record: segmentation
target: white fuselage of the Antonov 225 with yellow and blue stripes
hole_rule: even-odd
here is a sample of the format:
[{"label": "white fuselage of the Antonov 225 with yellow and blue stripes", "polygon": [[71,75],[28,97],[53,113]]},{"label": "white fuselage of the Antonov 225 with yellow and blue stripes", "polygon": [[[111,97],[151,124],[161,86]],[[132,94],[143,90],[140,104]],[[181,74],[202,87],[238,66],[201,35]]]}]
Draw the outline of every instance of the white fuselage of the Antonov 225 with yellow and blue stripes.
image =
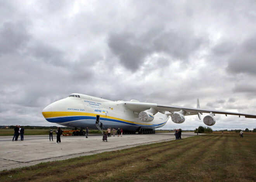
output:
[{"label": "white fuselage of the Antonov 225 with yellow and blue stripes", "polygon": [[124,101],[111,101],[83,94],[72,94],[58,100],[45,107],[42,114],[48,122],[62,126],[97,129],[95,123],[98,119],[102,122],[103,129],[123,128],[126,131],[160,128],[169,119],[166,114],[157,112],[153,121],[143,122],[138,118],[138,112],[125,107]]}]

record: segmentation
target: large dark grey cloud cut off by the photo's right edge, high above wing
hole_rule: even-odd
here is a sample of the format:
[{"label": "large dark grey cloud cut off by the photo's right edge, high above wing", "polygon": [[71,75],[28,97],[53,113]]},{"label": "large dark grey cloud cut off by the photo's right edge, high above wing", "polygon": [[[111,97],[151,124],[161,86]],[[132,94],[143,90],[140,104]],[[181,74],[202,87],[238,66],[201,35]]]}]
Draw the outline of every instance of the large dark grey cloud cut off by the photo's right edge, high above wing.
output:
[{"label": "large dark grey cloud cut off by the photo's right edge, high above wing", "polygon": [[256,75],[256,35],[246,39],[242,44],[237,46],[235,51],[228,59],[227,71],[230,73],[247,73]]}]

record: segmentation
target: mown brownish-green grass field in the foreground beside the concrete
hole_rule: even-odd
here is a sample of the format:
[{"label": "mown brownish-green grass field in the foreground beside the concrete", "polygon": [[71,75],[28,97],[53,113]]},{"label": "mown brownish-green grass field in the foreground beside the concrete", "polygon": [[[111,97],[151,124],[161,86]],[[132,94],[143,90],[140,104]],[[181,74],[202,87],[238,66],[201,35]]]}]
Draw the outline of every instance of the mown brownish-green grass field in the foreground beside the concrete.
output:
[{"label": "mown brownish-green grass field in the foreground beside the concrete", "polygon": [[0,181],[256,181],[256,134],[213,133],[4,170]]}]

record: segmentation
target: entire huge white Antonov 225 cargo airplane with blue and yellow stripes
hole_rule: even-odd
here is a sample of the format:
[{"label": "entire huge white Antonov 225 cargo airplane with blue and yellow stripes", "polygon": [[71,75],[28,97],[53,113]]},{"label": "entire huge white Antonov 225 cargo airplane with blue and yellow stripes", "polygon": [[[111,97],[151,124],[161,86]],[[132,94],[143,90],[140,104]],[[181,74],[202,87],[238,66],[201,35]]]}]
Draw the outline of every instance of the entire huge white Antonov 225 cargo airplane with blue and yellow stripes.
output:
[{"label": "entire huge white Antonov 225 cargo airplane with blue and yellow stripes", "polygon": [[131,134],[136,132],[139,134],[155,133],[156,128],[163,127],[168,121],[180,124],[185,121],[185,116],[189,115],[197,114],[201,120],[202,113],[209,113],[203,119],[207,126],[215,124],[215,114],[256,118],[256,115],[253,114],[201,109],[199,99],[197,99],[197,108],[189,108],[137,100],[111,101],[78,93],[58,100],[42,111],[48,122],[62,126],[100,129],[99,124],[102,122],[106,129],[122,128],[123,133]]}]

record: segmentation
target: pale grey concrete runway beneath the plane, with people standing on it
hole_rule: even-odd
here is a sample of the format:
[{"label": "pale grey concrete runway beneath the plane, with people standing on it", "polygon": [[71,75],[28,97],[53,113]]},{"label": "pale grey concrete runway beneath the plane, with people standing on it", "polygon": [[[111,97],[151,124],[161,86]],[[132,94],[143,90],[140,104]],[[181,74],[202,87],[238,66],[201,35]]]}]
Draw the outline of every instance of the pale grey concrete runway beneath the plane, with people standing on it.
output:
[{"label": "pale grey concrete runway beneath the plane, with people standing on it", "polygon": [[[196,135],[183,132],[182,138]],[[0,136],[0,171],[175,139],[174,133],[123,134],[102,142],[101,134],[89,134],[88,138],[61,136],[61,143],[55,144],[56,135],[54,141],[49,141],[49,135],[24,135],[24,141],[12,141],[12,137]]]}]

